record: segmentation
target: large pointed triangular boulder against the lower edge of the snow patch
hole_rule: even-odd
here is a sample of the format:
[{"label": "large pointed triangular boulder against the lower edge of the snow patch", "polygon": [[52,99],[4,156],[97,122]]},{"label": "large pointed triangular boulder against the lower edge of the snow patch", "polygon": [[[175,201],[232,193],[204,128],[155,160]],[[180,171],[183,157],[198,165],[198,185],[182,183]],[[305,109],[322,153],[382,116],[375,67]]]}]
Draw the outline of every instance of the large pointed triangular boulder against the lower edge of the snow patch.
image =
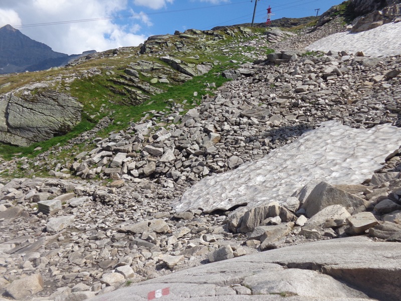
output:
[{"label": "large pointed triangular boulder against the lower edge of the snow patch", "polygon": [[326,182],[321,182],[312,190],[302,208],[306,210],[306,216],[310,218],[330,205],[341,205],[343,207],[352,208],[368,206],[365,200]]}]

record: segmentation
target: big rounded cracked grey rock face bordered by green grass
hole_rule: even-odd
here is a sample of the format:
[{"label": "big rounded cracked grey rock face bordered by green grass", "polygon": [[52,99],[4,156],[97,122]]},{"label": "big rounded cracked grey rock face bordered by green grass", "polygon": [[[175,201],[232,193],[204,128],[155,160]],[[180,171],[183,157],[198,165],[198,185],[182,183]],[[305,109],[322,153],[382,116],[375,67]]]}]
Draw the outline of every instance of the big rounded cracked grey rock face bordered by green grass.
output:
[{"label": "big rounded cracked grey rock face bordered by green grass", "polygon": [[81,120],[82,107],[50,90],[27,98],[6,94],[0,99],[0,141],[28,146],[65,134]]}]

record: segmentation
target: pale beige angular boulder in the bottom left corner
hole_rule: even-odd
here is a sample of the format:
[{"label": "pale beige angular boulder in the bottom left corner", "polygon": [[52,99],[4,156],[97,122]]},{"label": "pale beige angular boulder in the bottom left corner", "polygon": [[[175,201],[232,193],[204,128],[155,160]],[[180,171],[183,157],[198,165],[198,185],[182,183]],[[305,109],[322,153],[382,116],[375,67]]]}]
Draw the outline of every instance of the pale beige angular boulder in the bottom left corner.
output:
[{"label": "pale beige angular boulder in the bottom left corner", "polygon": [[24,299],[42,290],[43,278],[40,274],[17,279],[6,288],[6,292],[17,300]]}]

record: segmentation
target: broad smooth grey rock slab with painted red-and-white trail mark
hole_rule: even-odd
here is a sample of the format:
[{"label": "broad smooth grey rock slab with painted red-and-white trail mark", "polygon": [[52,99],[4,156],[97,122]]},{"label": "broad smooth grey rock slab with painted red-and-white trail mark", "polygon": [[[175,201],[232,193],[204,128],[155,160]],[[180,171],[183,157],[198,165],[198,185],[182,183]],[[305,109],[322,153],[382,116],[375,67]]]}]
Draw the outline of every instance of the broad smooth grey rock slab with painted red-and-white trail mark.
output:
[{"label": "broad smooth grey rock slab with painted red-and-white trail mark", "polygon": [[401,293],[399,256],[398,243],[333,239],[177,271],[90,300],[367,301],[368,294],[395,301]]}]

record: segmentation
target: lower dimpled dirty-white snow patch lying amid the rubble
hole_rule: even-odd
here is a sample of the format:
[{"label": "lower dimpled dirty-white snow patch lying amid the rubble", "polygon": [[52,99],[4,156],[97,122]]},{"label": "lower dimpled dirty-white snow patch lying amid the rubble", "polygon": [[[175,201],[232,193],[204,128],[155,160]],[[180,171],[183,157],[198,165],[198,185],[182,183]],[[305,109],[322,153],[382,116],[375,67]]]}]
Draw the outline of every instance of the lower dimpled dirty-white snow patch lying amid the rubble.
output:
[{"label": "lower dimpled dirty-white snow patch lying amid the rubble", "polygon": [[199,181],[173,202],[176,212],[256,207],[290,197],[313,180],[360,184],[398,149],[401,130],[389,124],[356,129],[322,122],[298,140],[234,171]]}]

